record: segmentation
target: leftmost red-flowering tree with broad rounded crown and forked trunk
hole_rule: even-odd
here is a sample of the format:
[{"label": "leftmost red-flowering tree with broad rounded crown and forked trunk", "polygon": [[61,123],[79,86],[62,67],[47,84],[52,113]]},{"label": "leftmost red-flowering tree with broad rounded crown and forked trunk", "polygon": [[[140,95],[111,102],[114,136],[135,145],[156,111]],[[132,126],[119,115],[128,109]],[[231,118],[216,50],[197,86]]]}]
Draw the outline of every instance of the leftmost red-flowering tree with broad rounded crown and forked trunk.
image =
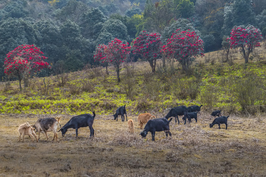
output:
[{"label": "leftmost red-flowering tree with broad rounded crown and forked trunk", "polygon": [[4,73],[8,77],[17,77],[20,90],[22,90],[22,79],[24,79],[24,85],[27,87],[27,81],[31,72],[38,72],[43,68],[49,67],[49,63],[43,61],[43,59],[47,58],[34,45],[20,45],[6,54]]}]

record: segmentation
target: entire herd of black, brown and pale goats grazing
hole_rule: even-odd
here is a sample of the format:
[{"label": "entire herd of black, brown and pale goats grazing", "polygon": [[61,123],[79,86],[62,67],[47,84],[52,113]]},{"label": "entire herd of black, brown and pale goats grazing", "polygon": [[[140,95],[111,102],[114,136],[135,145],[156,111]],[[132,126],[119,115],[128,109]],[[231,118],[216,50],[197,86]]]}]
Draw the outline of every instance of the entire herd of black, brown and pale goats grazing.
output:
[{"label": "entire herd of black, brown and pale goats grazing", "polygon": [[[170,128],[169,128],[169,122],[172,120],[171,117],[174,117],[175,122],[177,120],[178,124],[180,123],[178,116],[184,116],[182,118],[185,121],[184,124],[186,124],[187,119],[189,122],[191,122],[192,118],[195,118],[195,120],[197,122],[197,115],[200,111],[201,106],[202,105],[200,105],[200,106],[193,105],[190,107],[178,106],[178,107],[170,109],[169,113],[164,118],[155,118],[155,116],[152,116],[150,113],[140,114],[137,117],[137,121],[139,123],[140,129],[142,129],[143,124],[146,123],[143,131],[140,132],[140,135],[144,138],[144,137],[146,137],[148,132],[151,132],[152,141],[155,140],[154,136],[155,136],[156,131],[158,131],[158,132],[159,131],[165,131],[166,137],[168,136],[168,134],[169,134],[169,136],[171,136],[171,132],[170,132]],[[126,105],[119,107],[113,116],[114,116],[114,119],[116,119],[116,121],[118,120],[118,116],[121,116],[122,121],[125,121],[124,115],[126,115],[126,119],[128,121],[129,132],[134,133],[133,120],[132,119],[128,120]],[[93,115],[82,114],[82,115],[74,116],[63,127],[61,127],[58,132],[61,131],[62,136],[65,136],[67,129],[73,128],[76,130],[76,137],[77,137],[78,136],[78,129],[80,127],[87,127],[88,126],[90,128],[90,133],[91,133],[90,137],[92,137],[92,136],[94,137],[93,122],[94,122],[95,116],[96,116],[95,112],[93,112]],[[226,129],[227,129],[227,119],[229,116],[227,116],[227,117],[221,116],[221,110],[216,110],[216,111],[212,112],[211,116],[215,117],[215,119],[213,120],[212,123],[209,124],[210,127],[212,127],[215,124],[218,124],[219,129],[220,129],[220,124],[224,123],[226,125]],[[217,116],[218,116],[218,118],[216,118]],[[59,124],[59,120],[60,120],[60,118],[57,118],[57,119],[56,118],[39,118],[35,122],[34,125],[30,125],[28,122],[21,124],[18,128],[19,141],[21,140],[21,136],[23,136],[22,141],[24,141],[24,136],[29,135],[33,141],[34,141],[34,137],[35,137],[36,141],[38,142],[38,140],[40,138],[40,132],[43,132],[45,134],[47,140],[49,140],[46,132],[52,131],[54,133],[53,141],[56,138],[56,142],[57,142],[58,141],[57,126]],[[38,131],[38,139],[37,139],[37,136],[35,134],[35,131]]]}]

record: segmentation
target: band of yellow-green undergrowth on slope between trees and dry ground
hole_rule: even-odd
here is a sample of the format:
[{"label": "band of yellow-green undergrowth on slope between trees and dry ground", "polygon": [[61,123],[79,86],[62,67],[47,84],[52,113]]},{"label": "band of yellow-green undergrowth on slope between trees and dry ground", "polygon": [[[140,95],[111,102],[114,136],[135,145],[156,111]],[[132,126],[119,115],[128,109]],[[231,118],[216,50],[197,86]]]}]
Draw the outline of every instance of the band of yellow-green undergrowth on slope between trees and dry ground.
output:
[{"label": "band of yellow-green undergrowth on slope between trees and dry ground", "polygon": [[[127,66],[128,67],[128,66]],[[130,67],[128,67],[130,68]],[[29,89],[17,91],[17,83],[10,89],[0,90],[1,113],[24,114],[83,114],[95,110],[99,115],[113,114],[117,107],[127,105],[128,112],[165,113],[165,110],[178,105],[200,105],[202,109],[223,109],[226,112],[252,110],[256,113],[257,105],[265,111],[266,105],[266,65],[257,63],[200,65],[195,66],[191,76],[165,73],[146,73],[140,69],[123,69],[122,82],[117,83],[114,68],[109,68],[110,75],[104,70],[85,70],[69,74],[64,87],[58,87],[50,77],[48,94],[42,79]],[[249,87],[248,99],[241,99],[246,94],[245,82],[254,81],[256,87]],[[252,97],[252,95],[254,95]],[[260,96],[256,96],[256,95]],[[249,109],[249,110],[248,110]],[[261,107],[260,107],[261,109]],[[255,110],[255,111],[254,111]]]}]

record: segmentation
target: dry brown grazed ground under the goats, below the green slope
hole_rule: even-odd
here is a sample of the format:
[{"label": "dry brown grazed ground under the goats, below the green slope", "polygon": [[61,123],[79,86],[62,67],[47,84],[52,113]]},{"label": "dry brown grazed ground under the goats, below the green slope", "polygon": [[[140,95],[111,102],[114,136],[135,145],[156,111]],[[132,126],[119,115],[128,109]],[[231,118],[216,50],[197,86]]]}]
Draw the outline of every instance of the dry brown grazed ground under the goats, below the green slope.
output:
[{"label": "dry brown grazed ground under the goats, below the green slope", "polygon": [[[25,136],[18,142],[17,128],[47,115],[0,115],[0,177],[266,177],[266,117],[231,115],[228,130],[214,125],[207,114],[198,123],[170,122],[171,138],[164,132],[139,136],[128,133],[127,122],[107,116],[94,121],[95,137],[89,128],[74,129],[59,142],[40,135],[38,143]],[[62,126],[71,118],[63,115]],[[181,119],[181,118],[180,118]],[[59,127],[58,127],[59,130]]]}]

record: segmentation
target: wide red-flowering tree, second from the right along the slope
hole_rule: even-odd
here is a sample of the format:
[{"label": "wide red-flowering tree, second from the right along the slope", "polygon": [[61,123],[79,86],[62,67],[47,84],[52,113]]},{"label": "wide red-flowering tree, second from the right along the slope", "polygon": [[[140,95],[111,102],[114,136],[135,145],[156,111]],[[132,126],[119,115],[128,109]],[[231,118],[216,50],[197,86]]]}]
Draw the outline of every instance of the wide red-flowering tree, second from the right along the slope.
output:
[{"label": "wide red-flowering tree, second from the right along the slope", "polygon": [[177,59],[187,74],[190,71],[192,61],[198,56],[204,56],[203,41],[195,31],[190,29],[188,31],[177,29],[176,33],[167,40],[167,44],[162,47],[162,51],[168,57]]}]

